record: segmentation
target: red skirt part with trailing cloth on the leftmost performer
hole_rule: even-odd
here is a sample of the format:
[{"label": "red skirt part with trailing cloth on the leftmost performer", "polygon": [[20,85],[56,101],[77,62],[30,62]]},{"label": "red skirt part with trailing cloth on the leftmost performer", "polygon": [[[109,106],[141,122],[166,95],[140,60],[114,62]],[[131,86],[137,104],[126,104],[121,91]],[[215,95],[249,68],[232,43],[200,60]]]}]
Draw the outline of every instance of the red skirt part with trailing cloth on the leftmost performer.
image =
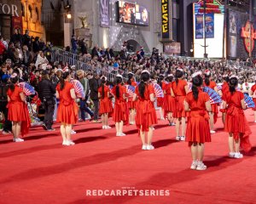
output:
[{"label": "red skirt part with trailing cloth on the leftmost performer", "polygon": [[29,127],[31,127],[31,120],[27,110],[27,106],[24,102],[15,101],[9,102],[7,105],[8,111],[8,119],[11,122],[21,122],[21,130],[20,133],[24,136],[29,131]]}]

